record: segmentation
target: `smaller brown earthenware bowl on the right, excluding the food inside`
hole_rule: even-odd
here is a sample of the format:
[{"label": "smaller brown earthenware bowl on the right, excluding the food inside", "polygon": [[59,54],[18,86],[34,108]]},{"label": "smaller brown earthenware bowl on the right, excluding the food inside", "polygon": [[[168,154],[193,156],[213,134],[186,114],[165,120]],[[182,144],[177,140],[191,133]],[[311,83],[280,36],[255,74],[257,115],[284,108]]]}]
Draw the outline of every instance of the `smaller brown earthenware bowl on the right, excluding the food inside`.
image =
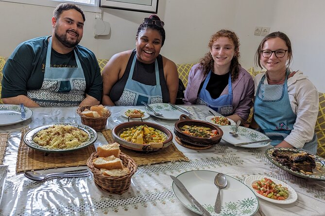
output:
[{"label": "smaller brown earthenware bowl on the right, excluding the food inside", "polygon": [[[210,127],[212,130],[217,130],[218,135],[211,137],[211,138],[200,138],[200,137],[194,137],[188,134],[185,134],[179,129],[180,127],[183,127],[184,125],[198,125],[198,126],[205,126]],[[215,124],[204,122],[204,121],[198,121],[198,120],[192,120],[187,115],[181,115],[179,117],[179,120],[175,123],[174,126],[174,133],[175,135],[181,139],[182,141],[186,143],[190,143],[192,145],[197,146],[209,146],[213,144],[217,144],[220,142],[223,132],[220,127],[218,127]]]}]

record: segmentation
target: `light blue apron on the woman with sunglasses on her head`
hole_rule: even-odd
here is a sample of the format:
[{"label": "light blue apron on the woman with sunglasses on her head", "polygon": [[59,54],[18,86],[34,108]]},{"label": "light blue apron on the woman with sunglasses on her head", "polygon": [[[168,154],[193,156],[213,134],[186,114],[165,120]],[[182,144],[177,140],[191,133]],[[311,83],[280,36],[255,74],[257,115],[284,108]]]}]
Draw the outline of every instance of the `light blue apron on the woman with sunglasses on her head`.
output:
[{"label": "light blue apron on the woman with sunglasses on her head", "polygon": [[[141,102],[147,104],[162,103],[162,93],[159,79],[159,68],[157,60],[154,61],[156,85],[145,85],[132,79],[134,67],[136,65],[137,55],[131,64],[129,77],[126,81],[124,91],[118,101],[115,101],[116,106],[143,106]],[[143,77],[145,78],[145,77]]]}]

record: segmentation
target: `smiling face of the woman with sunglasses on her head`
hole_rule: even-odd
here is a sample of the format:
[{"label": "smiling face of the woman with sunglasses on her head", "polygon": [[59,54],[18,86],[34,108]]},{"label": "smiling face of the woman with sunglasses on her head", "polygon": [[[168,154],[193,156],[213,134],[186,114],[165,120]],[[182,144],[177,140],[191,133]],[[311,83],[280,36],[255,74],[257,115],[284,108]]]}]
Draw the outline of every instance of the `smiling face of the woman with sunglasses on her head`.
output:
[{"label": "smiling face of the woman with sunglasses on her head", "polygon": [[162,36],[159,31],[146,28],[139,32],[136,38],[137,60],[143,63],[153,63],[160,53]]}]

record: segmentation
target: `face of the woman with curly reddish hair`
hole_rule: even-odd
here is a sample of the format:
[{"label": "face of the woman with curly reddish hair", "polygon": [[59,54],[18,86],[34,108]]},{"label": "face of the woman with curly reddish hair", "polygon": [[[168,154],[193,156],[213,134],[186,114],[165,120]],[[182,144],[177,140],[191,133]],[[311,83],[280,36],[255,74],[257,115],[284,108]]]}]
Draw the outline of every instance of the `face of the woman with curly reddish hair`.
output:
[{"label": "face of the woman with curly reddish hair", "polygon": [[228,37],[220,37],[214,41],[210,49],[214,67],[226,68],[227,72],[230,69],[231,60],[236,55],[235,45]]}]

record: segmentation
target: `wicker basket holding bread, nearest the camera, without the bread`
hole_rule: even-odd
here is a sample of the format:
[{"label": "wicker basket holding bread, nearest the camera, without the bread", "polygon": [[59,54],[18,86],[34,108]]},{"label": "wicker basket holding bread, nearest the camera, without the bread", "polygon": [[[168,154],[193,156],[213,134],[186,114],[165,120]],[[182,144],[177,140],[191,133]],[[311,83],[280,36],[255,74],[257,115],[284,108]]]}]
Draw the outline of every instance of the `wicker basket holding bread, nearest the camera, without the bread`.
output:
[{"label": "wicker basket holding bread, nearest the camera, without the bread", "polygon": [[97,157],[97,152],[94,152],[87,160],[87,166],[94,174],[95,184],[108,193],[122,194],[126,192],[130,187],[133,174],[137,171],[136,162],[127,154],[120,153],[122,164],[124,167],[129,168],[130,174],[120,177],[110,177],[101,174],[101,171],[94,167],[93,159]]}]

